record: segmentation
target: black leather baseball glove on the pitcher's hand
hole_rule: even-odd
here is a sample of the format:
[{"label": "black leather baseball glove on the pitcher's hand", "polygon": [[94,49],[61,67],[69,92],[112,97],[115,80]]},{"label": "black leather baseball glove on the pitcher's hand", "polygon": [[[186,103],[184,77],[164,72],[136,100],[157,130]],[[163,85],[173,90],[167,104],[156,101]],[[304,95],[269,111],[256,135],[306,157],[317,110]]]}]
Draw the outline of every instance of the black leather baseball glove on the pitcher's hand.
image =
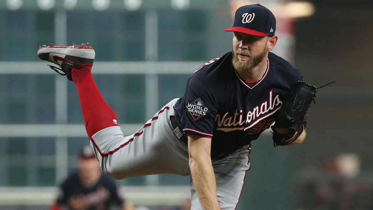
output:
[{"label": "black leather baseball glove on the pitcher's hand", "polygon": [[[332,83],[335,82],[328,84]],[[316,104],[317,90],[328,84],[316,87],[305,81],[297,81],[290,88],[282,102],[275,125],[271,126],[274,146],[288,145],[301,135],[303,129],[306,129],[305,118],[307,117],[308,107],[311,102]],[[276,128],[288,129],[289,133],[280,134],[276,132]]]}]

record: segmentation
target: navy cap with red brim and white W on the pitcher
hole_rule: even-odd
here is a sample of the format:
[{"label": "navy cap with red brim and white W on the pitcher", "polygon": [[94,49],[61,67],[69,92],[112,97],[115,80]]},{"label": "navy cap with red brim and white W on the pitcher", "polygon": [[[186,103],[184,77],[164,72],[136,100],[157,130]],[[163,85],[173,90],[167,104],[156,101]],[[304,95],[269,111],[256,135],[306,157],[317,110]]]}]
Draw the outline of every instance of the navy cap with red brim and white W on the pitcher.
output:
[{"label": "navy cap with red brim and white W on the pitcher", "polygon": [[260,4],[251,4],[239,7],[236,10],[232,28],[227,28],[224,31],[273,37],[275,30],[276,18],[272,12]]}]

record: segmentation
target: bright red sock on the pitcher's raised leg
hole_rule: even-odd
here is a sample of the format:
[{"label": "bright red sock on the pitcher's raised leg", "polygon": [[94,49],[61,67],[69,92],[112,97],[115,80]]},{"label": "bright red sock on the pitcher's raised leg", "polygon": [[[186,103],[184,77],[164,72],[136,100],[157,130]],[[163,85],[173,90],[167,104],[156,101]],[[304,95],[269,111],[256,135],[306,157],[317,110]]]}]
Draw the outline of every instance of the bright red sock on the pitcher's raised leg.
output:
[{"label": "bright red sock on the pitcher's raised leg", "polygon": [[92,65],[81,65],[79,69],[71,70],[72,79],[78,90],[85,129],[90,139],[104,128],[119,126],[114,111],[106,104],[93,80],[91,67]]}]

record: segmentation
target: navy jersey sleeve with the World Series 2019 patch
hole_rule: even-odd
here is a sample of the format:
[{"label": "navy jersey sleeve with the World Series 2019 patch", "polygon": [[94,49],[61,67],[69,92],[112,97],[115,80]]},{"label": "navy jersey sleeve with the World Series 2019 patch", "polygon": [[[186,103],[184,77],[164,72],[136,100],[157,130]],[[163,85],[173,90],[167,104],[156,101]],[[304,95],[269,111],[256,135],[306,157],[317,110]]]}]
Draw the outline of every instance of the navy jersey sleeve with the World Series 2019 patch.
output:
[{"label": "navy jersey sleeve with the World Series 2019 patch", "polygon": [[191,77],[180,103],[179,127],[186,134],[212,138],[217,100],[211,87],[197,77]]}]

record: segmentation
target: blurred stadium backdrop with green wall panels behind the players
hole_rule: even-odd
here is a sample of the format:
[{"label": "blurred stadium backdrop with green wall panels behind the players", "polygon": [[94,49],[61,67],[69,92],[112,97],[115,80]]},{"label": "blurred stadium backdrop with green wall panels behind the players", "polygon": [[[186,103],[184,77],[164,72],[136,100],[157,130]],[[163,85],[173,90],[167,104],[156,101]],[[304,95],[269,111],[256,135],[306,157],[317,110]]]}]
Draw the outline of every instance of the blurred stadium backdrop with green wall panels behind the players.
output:
[{"label": "blurred stadium backdrop with green wall panels behind the players", "polygon": [[[191,72],[231,50],[232,34],[223,29],[232,24],[233,4],[242,2],[259,2],[281,17],[276,34],[286,41],[276,52],[305,81],[337,83],[311,105],[303,144],[274,148],[270,133],[253,142],[237,209],[372,209],[368,0],[313,0],[314,13],[294,19],[282,10],[291,2],[279,0],[1,0],[0,209],[47,209],[88,143],[75,87],[38,60],[40,45],[90,42],[94,78],[129,134],[181,96]],[[152,210],[190,196],[189,177],[118,183]]]}]

